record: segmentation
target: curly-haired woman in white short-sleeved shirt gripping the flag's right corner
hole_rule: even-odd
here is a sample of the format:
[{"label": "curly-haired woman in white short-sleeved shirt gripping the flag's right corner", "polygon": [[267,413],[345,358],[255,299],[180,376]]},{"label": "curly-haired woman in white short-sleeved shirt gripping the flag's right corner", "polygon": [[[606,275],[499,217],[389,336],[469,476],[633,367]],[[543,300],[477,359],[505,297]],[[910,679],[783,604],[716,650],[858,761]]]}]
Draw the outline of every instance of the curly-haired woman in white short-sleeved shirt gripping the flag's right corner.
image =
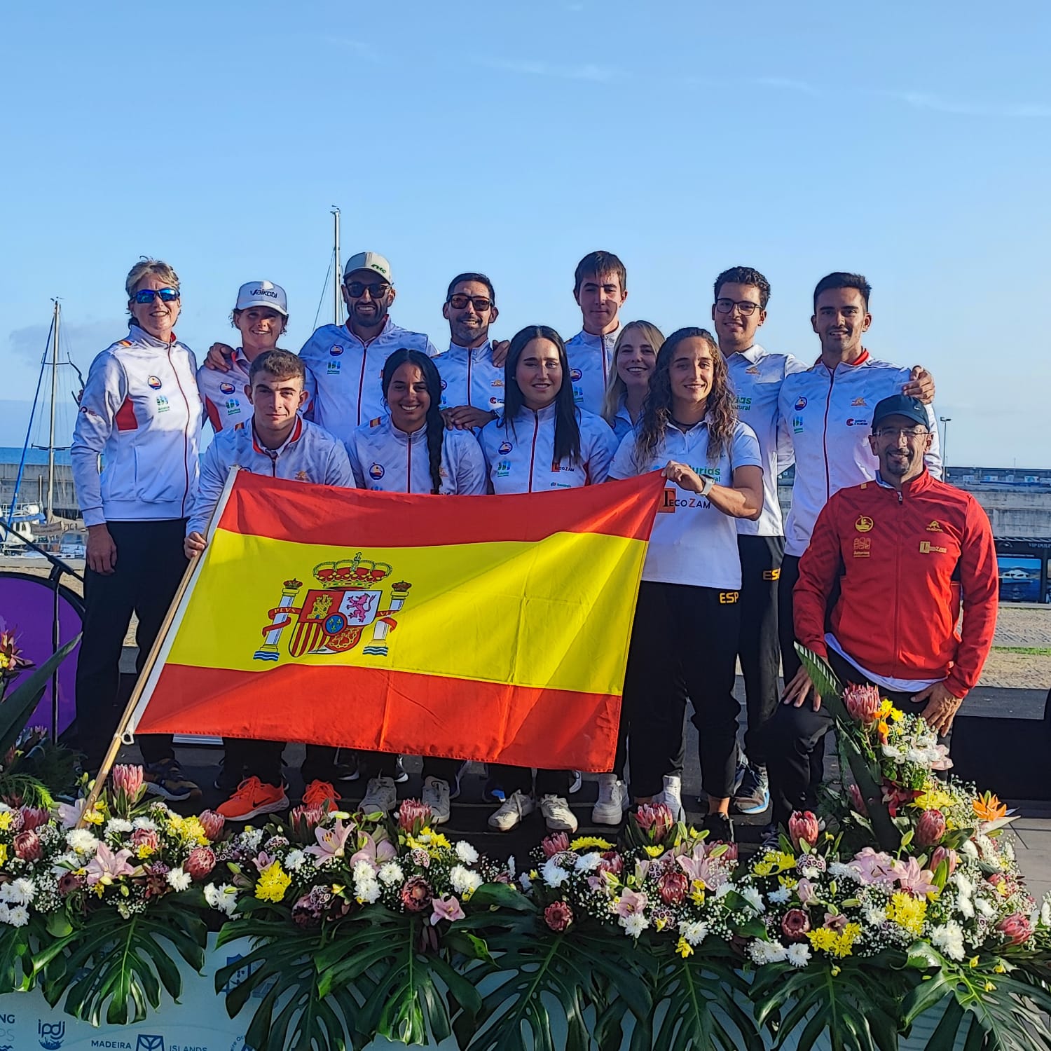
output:
[{"label": "curly-haired woman in white short-sleeved shirt gripping the flag's right corner", "polygon": [[[763,469],[755,433],[737,418],[726,363],[705,329],[679,329],[664,341],[638,424],[621,441],[610,477],[654,470],[672,485],[642,570],[616,783],[628,747],[637,803],[658,795],[666,776],[681,776],[688,697],[708,797],[703,824],[713,840],[731,842],[740,710],[734,697],[741,586],[735,519],[762,512]],[[623,798],[616,784],[613,794]]]}]

